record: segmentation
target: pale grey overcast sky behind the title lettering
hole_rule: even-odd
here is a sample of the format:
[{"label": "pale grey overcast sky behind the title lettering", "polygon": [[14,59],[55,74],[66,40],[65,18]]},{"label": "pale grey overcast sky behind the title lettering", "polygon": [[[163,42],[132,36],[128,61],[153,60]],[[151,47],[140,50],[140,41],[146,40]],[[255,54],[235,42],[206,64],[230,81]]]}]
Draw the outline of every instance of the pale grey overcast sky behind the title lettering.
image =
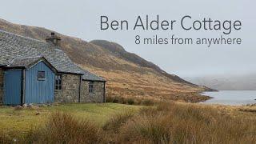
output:
[{"label": "pale grey overcast sky behind the title lettering", "polygon": [[[8,0],[0,4],[0,18],[7,21],[41,26],[59,33],[82,38],[86,41],[106,39],[118,42],[124,48],[146,58],[170,74],[182,77],[207,74],[246,74],[256,72],[256,2],[255,0],[109,0],[78,1],[63,0]],[[162,38],[175,34],[179,38],[218,38],[221,32],[180,30],[100,30],[100,16],[110,20],[128,20],[133,25],[138,15],[150,15],[160,19],[179,20],[189,14],[192,18],[219,20],[241,20],[242,30],[229,35],[242,38],[240,46],[177,46],[136,45],[134,37],[151,38],[158,34]]]}]

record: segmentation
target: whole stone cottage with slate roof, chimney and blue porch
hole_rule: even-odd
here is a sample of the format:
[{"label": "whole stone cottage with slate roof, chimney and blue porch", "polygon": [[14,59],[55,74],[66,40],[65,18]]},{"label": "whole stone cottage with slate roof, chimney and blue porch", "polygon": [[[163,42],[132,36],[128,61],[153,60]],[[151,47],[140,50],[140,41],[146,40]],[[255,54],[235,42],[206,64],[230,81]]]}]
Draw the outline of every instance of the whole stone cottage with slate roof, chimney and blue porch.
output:
[{"label": "whole stone cottage with slate roof, chimney and blue porch", "polygon": [[75,65],[60,42],[0,30],[0,103],[105,102],[106,80]]}]

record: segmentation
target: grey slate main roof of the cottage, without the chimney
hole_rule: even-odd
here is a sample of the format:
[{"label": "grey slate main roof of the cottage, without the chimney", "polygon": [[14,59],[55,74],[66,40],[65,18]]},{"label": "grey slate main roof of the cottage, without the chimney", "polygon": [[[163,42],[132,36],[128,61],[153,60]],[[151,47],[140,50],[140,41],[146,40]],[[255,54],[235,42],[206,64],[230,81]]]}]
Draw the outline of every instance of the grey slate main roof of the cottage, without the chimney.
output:
[{"label": "grey slate main roof of the cottage, without the chimney", "polygon": [[32,61],[39,57],[46,58],[60,73],[82,74],[83,80],[105,82],[105,79],[75,65],[58,46],[0,30],[0,66],[18,61],[19,58]]}]

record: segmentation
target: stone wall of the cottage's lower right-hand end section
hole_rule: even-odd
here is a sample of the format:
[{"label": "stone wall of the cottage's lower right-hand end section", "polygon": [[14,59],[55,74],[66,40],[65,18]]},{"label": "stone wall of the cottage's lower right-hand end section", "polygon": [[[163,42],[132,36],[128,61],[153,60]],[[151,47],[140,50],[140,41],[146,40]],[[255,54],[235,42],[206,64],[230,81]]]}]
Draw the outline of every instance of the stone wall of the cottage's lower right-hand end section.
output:
[{"label": "stone wall of the cottage's lower right-hand end section", "polygon": [[93,82],[94,93],[89,93],[89,81],[82,81],[81,102],[104,102],[104,82]]}]

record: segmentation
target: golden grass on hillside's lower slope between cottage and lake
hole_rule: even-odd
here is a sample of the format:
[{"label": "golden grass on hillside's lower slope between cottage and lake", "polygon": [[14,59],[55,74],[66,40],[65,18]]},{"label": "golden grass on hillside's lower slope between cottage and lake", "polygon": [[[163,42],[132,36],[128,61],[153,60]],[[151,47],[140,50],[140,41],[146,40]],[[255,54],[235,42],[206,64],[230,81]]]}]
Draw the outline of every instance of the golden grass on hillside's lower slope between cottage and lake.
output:
[{"label": "golden grass on hillside's lower slope between cottage and lake", "polygon": [[106,94],[111,97],[165,99],[183,102],[201,102],[209,99],[209,97],[198,95],[203,89],[174,82],[170,78],[153,72],[139,74],[94,68],[89,70],[108,80]]}]

